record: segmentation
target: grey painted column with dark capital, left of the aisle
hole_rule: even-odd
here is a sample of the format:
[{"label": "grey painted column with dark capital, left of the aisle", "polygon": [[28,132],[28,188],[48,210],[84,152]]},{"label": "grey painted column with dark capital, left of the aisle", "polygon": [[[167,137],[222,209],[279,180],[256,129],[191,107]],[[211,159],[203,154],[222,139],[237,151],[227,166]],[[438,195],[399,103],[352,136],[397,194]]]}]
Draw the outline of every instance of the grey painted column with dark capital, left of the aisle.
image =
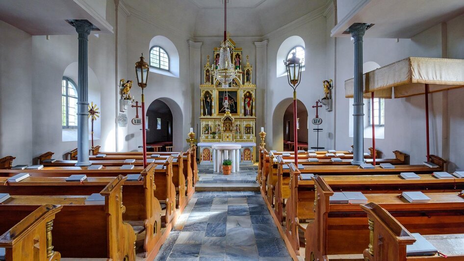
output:
[{"label": "grey painted column with dark capital, left of the aisle", "polygon": [[89,120],[88,120],[88,36],[93,25],[84,20],[75,20],[78,33],[79,51],[77,58],[77,163],[76,166],[90,166],[89,161]]}]

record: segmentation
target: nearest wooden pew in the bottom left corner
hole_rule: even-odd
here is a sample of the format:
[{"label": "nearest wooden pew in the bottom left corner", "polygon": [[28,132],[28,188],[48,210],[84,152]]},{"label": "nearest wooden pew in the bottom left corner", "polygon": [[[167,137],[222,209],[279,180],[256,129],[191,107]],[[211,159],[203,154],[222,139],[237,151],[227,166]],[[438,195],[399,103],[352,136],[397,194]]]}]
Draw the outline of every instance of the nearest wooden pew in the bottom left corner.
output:
[{"label": "nearest wooden pew in the bottom left corner", "polygon": [[53,219],[62,206],[43,205],[27,214],[16,206],[0,205],[0,248],[6,261],[59,261],[53,251]]}]

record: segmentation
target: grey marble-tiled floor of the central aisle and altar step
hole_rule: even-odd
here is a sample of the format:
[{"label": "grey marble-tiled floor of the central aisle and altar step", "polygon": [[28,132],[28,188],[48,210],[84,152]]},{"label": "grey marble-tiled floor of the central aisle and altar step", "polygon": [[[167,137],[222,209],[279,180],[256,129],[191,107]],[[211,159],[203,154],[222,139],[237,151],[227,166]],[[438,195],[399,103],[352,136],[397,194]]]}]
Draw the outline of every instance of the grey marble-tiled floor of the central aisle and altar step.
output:
[{"label": "grey marble-tiled floor of the central aisle and altar step", "polygon": [[[252,183],[256,166],[224,176],[199,166],[199,183]],[[210,172],[210,173],[209,173]],[[256,191],[195,192],[156,261],[290,261],[261,195]]]}]

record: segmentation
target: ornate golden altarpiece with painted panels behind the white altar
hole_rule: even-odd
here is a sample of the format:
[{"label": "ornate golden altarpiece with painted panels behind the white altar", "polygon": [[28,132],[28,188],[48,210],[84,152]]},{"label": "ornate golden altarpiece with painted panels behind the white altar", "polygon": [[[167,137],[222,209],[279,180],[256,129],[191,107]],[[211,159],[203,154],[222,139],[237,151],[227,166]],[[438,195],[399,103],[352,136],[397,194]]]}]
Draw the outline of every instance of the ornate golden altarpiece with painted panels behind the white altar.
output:
[{"label": "ornate golden altarpiece with painted panels behind the white altar", "polygon": [[[232,47],[231,60],[235,68],[235,77],[228,88],[214,78],[219,64],[219,48],[214,48],[213,58],[206,57],[203,68],[203,83],[200,84],[200,142],[201,163],[212,164],[211,146],[214,144],[240,144],[240,162],[255,161],[256,150],[256,84],[252,83],[253,66],[249,57],[242,58],[242,48],[235,47],[232,39],[228,39]],[[224,99],[229,101],[229,111],[223,105]]]}]

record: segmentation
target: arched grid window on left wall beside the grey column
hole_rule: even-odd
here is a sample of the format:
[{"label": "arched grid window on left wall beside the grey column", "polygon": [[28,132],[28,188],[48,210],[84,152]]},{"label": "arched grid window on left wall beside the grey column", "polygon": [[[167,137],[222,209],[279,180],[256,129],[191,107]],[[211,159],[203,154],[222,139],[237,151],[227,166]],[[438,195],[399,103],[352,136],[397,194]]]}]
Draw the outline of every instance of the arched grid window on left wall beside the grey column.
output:
[{"label": "arched grid window on left wall beside the grey column", "polygon": [[68,77],[61,81],[61,104],[63,129],[77,128],[77,88]]}]

